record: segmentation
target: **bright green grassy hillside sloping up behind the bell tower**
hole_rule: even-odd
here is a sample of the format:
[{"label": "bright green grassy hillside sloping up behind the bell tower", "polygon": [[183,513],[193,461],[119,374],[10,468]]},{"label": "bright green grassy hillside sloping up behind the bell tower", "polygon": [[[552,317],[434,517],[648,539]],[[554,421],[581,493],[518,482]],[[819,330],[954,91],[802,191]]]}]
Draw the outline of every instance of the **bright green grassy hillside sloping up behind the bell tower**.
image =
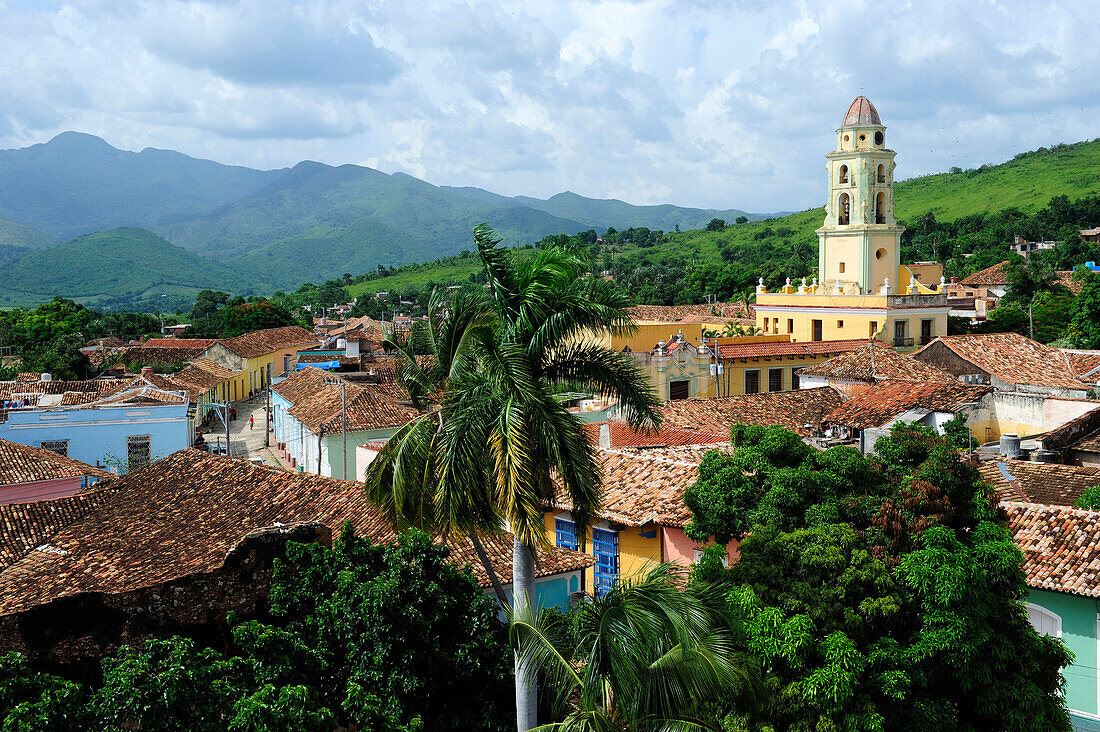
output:
[{"label": "bright green grassy hillside sloping up behind the bell tower", "polygon": [[[1100,193],[1100,141],[1025,153],[1016,160],[974,171],[911,178],[898,183],[894,188],[898,217],[902,221],[911,221],[928,210],[935,212],[936,218],[942,221],[1009,207],[1034,211],[1057,195],[1066,195],[1072,199]],[[648,262],[667,260],[682,263],[691,260],[692,252],[698,250],[698,260],[717,262],[719,239],[728,241],[735,248],[751,247],[757,243],[755,234],[766,228],[772,231],[790,229],[791,233],[787,236],[770,238],[805,242],[815,253],[817,239],[814,230],[822,225],[824,218],[824,208],[813,208],[790,216],[727,227],[722,231],[683,231],[672,234],[671,241],[661,247],[648,250],[624,247],[619,255],[632,254]],[[1100,225],[1100,221],[1097,223]],[[469,269],[453,265],[426,266],[417,272],[399,273],[354,285],[360,288],[354,294],[414,288],[431,281],[462,282],[474,267],[473,262]]]}]

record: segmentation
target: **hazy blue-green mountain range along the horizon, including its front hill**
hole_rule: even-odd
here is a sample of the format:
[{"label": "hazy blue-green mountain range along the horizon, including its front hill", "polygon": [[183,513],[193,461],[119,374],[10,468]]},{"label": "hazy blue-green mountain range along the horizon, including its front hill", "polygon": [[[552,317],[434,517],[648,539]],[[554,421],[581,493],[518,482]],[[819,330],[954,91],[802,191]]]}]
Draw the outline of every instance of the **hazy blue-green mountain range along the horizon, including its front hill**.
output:
[{"label": "hazy blue-green mountain range along the horizon, including its front hill", "polygon": [[0,306],[64,295],[165,309],[206,287],[294,288],[457,254],[471,248],[481,221],[517,244],[608,227],[694,229],[739,216],[765,218],[569,192],[509,197],[360,165],[256,171],[65,132],[0,150]]}]

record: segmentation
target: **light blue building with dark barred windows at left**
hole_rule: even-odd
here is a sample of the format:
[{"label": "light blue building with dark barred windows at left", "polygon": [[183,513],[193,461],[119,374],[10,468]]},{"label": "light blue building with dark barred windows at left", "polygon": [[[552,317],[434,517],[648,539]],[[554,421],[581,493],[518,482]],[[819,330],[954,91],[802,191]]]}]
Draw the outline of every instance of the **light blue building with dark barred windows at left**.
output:
[{"label": "light blue building with dark barred windows at left", "polygon": [[190,444],[188,397],[127,382],[4,382],[0,439],[125,472]]}]

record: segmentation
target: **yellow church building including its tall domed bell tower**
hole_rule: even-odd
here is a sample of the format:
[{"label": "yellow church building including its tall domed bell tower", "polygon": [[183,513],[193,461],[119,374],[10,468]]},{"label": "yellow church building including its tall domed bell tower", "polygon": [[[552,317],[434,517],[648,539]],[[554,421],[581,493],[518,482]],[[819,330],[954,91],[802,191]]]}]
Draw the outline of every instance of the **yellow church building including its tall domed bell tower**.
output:
[{"label": "yellow church building including its tall domed bell tower", "polygon": [[[904,228],[894,218],[894,153],[875,106],[857,97],[826,155],[828,198],[817,229],[818,277],[790,280],[769,292],[757,286],[757,325],[792,341],[866,339],[878,336],[912,348],[947,334],[947,294],[922,284],[900,263]],[[922,277],[934,263],[921,263]],[[820,278],[820,282],[818,282]]]}]

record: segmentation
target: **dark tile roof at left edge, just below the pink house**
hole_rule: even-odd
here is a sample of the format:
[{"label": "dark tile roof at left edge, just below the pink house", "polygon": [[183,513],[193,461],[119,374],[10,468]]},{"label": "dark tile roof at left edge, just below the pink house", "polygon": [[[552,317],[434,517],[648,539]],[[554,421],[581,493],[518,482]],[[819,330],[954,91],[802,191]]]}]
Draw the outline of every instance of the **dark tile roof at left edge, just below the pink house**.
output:
[{"label": "dark tile roof at left edge, just below the pink house", "polygon": [[76,495],[0,505],[0,572],[88,511],[109,500],[113,488],[97,487]]}]

